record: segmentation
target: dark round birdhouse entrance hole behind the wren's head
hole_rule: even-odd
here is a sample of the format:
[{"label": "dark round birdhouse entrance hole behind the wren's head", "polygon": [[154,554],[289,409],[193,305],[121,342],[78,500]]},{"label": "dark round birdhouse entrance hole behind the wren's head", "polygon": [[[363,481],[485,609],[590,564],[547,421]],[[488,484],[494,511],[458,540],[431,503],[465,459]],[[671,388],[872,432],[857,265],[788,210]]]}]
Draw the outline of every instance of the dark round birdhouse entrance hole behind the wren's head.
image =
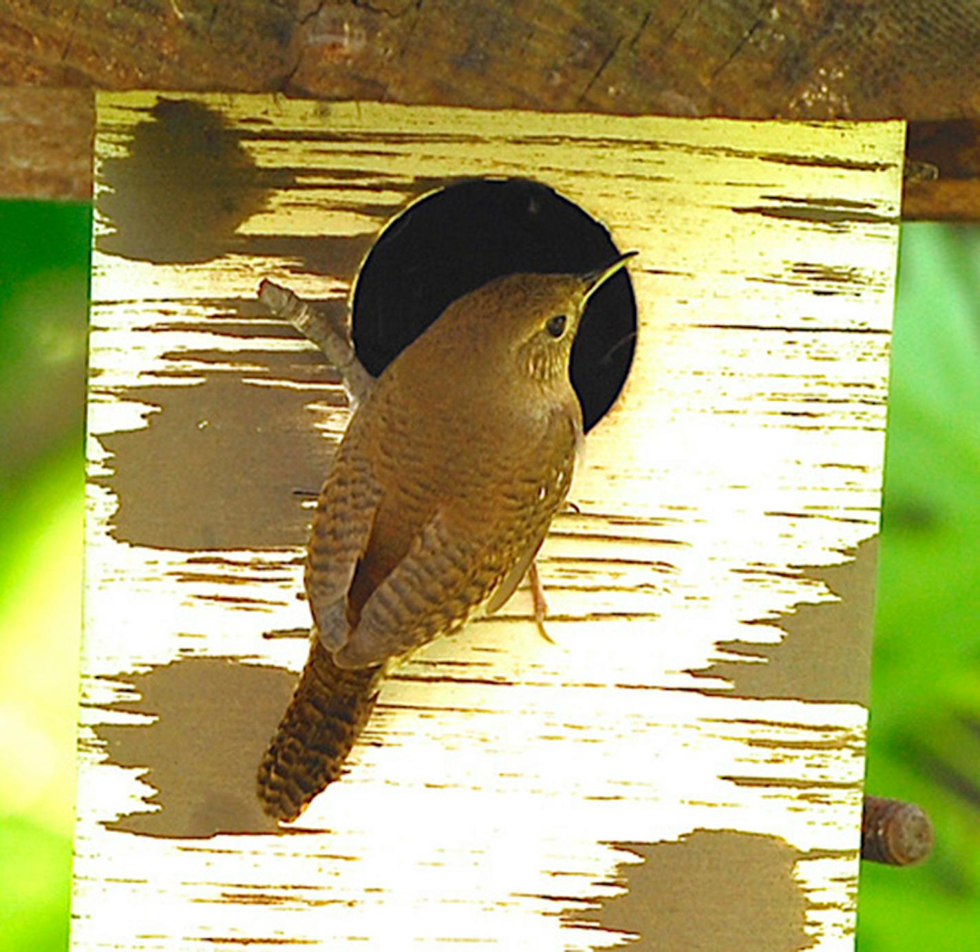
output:
[{"label": "dark round birdhouse entrance hole behind the wren's head", "polygon": [[[377,376],[445,308],[495,277],[584,273],[619,254],[603,225],[526,178],[473,179],[420,199],[381,233],[354,292],[354,343]],[[585,428],[606,414],[633,359],[636,299],[623,271],[589,301],[571,351]]]}]

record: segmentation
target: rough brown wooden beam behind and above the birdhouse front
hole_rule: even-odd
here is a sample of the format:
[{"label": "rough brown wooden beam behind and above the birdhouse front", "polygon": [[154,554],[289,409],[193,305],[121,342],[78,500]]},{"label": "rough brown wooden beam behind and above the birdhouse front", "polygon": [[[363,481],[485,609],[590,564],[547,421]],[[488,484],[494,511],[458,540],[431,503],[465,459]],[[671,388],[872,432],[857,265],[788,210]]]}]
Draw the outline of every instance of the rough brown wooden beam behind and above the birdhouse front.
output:
[{"label": "rough brown wooden beam behind and above the birdhouse front", "polygon": [[[0,3],[8,85],[622,115],[977,121],[978,45],[972,0]],[[0,193],[87,198],[90,112],[4,97]],[[978,181],[907,214],[975,220]]]}]

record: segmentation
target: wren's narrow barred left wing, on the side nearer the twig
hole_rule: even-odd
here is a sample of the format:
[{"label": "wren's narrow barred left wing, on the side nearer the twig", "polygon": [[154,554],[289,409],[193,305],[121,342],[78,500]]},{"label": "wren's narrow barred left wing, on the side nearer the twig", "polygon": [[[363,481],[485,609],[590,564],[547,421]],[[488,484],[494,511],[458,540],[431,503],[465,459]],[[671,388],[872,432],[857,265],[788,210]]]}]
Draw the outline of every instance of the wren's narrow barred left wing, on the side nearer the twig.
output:
[{"label": "wren's narrow barred left wing, on the side nearer the twig", "polygon": [[306,589],[320,640],[330,650],[350,633],[347,599],[368,548],[382,490],[358,459],[335,467],[323,486],[310,535]]}]

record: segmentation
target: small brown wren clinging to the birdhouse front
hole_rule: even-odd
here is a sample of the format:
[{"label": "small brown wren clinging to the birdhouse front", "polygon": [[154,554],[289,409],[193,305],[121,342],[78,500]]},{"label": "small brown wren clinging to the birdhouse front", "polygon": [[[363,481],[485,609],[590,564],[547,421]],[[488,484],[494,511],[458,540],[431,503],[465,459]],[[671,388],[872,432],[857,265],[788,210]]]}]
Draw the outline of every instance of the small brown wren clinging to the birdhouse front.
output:
[{"label": "small brown wren clinging to the birdhouse front", "polygon": [[328,783],[396,662],[511,596],[582,439],[568,378],[588,275],[500,277],[451,304],[378,378],[319,494],[310,657],[259,768],[291,821]]}]

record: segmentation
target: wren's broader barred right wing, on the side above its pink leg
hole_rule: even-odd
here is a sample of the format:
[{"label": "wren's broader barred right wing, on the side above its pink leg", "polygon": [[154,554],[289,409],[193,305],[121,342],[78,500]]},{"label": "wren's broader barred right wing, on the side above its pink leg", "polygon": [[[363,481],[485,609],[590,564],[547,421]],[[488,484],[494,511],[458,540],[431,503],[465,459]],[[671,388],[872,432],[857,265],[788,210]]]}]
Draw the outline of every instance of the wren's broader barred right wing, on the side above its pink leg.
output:
[{"label": "wren's broader barred right wing, on the side above its pink leg", "polygon": [[422,528],[368,598],[358,625],[334,655],[339,667],[381,664],[465,625],[527,545],[526,538],[498,539],[471,524],[453,523],[440,511]]}]

